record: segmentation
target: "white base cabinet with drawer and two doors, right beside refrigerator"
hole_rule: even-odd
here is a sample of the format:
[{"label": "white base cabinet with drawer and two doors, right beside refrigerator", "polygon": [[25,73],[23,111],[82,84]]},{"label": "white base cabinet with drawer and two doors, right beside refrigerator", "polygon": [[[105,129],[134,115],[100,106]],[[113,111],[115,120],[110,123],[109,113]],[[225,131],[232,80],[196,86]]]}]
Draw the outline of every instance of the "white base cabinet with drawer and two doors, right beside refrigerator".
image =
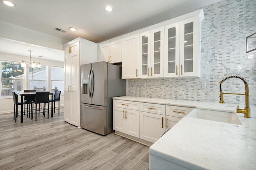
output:
[{"label": "white base cabinet with drawer and two doors, right beside refrigerator", "polygon": [[[140,137],[140,111],[138,102],[113,100],[113,129]],[[132,108],[132,109],[127,109]]]}]

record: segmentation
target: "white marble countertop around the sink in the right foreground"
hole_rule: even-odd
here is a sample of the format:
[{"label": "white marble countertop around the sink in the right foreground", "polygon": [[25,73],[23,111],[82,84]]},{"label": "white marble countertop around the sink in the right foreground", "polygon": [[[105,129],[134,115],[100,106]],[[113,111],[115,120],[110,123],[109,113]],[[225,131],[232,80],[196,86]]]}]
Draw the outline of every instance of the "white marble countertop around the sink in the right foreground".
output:
[{"label": "white marble countertop around the sink in the right foreground", "polygon": [[[196,106],[234,113],[236,107],[211,102],[200,102]],[[256,106],[250,107],[251,118],[236,113],[242,125],[184,117],[150,147],[150,155],[182,166],[180,169],[255,170]],[[160,169],[170,169],[161,165]]]}]

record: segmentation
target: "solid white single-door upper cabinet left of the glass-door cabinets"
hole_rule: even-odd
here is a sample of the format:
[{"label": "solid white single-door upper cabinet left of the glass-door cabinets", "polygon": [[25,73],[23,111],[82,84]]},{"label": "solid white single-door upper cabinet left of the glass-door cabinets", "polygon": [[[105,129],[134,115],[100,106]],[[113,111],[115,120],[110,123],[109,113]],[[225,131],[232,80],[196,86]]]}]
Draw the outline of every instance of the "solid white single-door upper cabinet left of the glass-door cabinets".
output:
[{"label": "solid white single-door upper cabinet left of the glass-door cabinets", "polygon": [[122,79],[139,78],[139,35],[122,39]]}]

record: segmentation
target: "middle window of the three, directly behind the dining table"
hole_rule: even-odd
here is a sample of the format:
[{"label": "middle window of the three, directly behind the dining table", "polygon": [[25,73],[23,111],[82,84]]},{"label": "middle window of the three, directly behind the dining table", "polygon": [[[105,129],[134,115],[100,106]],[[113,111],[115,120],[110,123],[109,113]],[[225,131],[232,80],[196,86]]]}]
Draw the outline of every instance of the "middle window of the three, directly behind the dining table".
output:
[{"label": "middle window of the three, directly behind the dining table", "polygon": [[29,68],[29,89],[37,92],[48,91],[48,66]]}]

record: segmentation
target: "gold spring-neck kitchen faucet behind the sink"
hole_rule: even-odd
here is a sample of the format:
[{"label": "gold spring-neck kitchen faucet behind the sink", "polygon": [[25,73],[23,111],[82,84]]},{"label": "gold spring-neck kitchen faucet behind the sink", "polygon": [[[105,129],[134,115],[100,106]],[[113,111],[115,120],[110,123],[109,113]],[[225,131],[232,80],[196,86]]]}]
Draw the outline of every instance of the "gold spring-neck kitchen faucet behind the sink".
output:
[{"label": "gold spring-neck kitchen faucet behind the sink", "polygon": [[[221,84],[228,78],[239,78],[241,80],[243,80],[244,82],[244,86],[245,86],[245,94],[238,94],[238,93],[223,93],[221,91]],[[249,88],[248,88],[248,84],[246,82],[246,80],[244,78],[242,78],[241,76],[228,76],[226,78],[223,78],[220,81],[220,103],[225,103],[224,99],[223,99],[223,94],[236,94],[236,95],[245,95],[245,107],[244,109],[239,109],[239,106],[237,106],[236,108],[236,113],[244,113],[244,117],[251,117],[251,111],[250,111],[250,107],[249,107]]]}]

